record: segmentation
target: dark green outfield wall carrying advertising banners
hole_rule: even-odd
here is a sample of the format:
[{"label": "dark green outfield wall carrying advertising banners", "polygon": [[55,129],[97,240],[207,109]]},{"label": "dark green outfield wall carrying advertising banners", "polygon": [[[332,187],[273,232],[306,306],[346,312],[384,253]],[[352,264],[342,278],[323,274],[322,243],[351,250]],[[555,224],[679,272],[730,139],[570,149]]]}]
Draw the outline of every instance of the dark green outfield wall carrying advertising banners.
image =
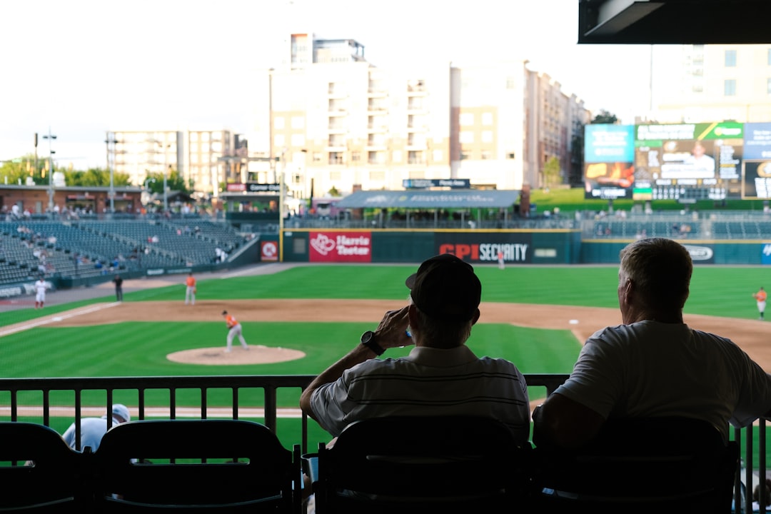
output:
[{"label": "dark green outfield wall carrying advertising banners", "polygon": [[[581,240],[578,230],[328,230],[283,234],[288,262],[415,263],[451,253],[472,264],[618,264],[629,239]],[[682,240],[695,264],[771,264],[771,239]],[[271,250],[274,251],[274,250]],[[268,255],[261,260],[275,260]]]}]

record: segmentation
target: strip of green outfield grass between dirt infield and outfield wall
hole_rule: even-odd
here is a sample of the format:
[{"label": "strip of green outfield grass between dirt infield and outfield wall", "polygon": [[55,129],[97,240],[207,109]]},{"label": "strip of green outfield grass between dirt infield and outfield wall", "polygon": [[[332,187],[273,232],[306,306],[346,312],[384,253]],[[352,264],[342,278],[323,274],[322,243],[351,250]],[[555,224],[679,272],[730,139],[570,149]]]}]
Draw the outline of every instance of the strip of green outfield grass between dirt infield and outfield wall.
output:
[{"label": "strip of green outfield grass between dirt infield and outfield wall", "polygon": [[[246,298],[375,298],[403,300],[409,291],[404,279],[415,266],[328,264],[294,267],[278,274],[201,280],[201,300]],[[482,301],[521,304],[557,304],[618,307],[617,266],[477,266],[483,284]],[[765,284],[771,287],[767,267],[696,267],[689,314],[755,318],[750,294]],[[125,301],[180,301],[182,286],[126,294]],[[108,297],[110,300],[112,296]],[[34,311],[32,311],[34,312]],[[217,313],[219,314],[219,313]],[[221,320],[217,320],[221,321]]]}]

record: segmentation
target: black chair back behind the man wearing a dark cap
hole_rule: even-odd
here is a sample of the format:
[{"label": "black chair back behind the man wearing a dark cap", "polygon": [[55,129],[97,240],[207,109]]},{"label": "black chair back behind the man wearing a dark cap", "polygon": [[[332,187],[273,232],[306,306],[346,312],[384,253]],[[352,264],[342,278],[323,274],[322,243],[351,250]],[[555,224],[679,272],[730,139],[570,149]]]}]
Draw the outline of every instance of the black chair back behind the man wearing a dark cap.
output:
[{"label": "black chair back behind the man wearing a dark cap", "polygon": [[316,512],[527,512],[529,450],[490,418],[354,422],[319,445]]}]

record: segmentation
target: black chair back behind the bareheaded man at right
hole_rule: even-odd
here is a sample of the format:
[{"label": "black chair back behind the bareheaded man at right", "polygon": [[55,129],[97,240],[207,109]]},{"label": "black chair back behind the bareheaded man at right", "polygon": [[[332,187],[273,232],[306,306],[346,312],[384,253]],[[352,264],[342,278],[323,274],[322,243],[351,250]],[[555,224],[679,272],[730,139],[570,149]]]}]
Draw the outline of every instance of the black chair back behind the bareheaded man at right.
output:
[{"label": "black chair back behind the bareheaded man at right", "polygon": [[707,422],[641,418],[606,423],[577,452],[534,449],[537,512],[731,512],[739,446]]}]

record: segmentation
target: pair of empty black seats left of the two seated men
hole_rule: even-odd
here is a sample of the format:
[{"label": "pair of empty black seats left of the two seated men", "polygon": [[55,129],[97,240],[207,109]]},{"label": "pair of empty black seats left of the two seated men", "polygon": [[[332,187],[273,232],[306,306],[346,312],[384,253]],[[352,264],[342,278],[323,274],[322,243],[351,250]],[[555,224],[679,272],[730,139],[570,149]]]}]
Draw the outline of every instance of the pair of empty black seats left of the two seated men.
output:
[{"label": "pair of empty black seats left of the two seated men", "polygon": [[115,425],[76,452],[44,425],[0,422],[2,512],[250,511],[299,514],[300,450],[259,423]]}]

